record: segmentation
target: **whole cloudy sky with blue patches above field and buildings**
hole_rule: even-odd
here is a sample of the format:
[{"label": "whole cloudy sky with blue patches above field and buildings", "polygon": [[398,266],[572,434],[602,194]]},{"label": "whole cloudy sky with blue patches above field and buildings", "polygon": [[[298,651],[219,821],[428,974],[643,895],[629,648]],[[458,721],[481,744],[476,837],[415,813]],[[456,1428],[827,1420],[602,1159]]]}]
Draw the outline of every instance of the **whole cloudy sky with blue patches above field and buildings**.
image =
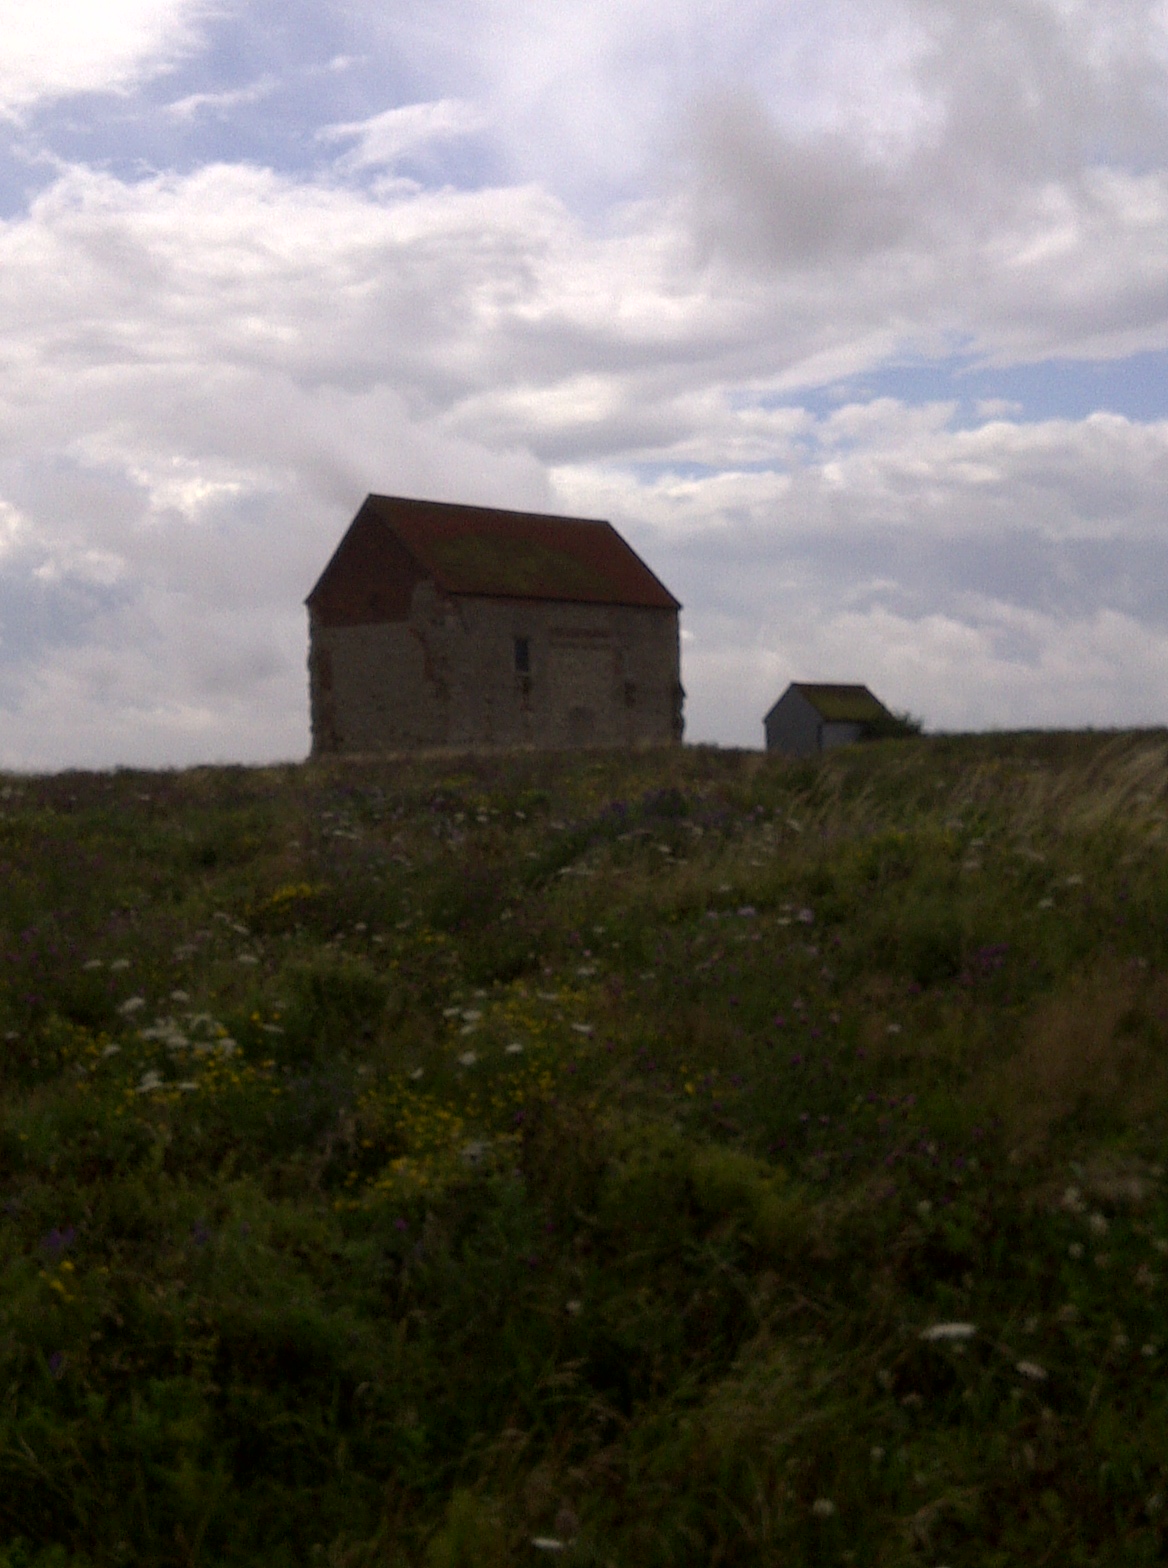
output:
[{"label": "whole cloudy sky with blue patches above field and buildings", "polygon": [[303,757],[368,491],[608,517],[693,742],[1168,718],[1168,0],[0,36],[0,767]]}]

